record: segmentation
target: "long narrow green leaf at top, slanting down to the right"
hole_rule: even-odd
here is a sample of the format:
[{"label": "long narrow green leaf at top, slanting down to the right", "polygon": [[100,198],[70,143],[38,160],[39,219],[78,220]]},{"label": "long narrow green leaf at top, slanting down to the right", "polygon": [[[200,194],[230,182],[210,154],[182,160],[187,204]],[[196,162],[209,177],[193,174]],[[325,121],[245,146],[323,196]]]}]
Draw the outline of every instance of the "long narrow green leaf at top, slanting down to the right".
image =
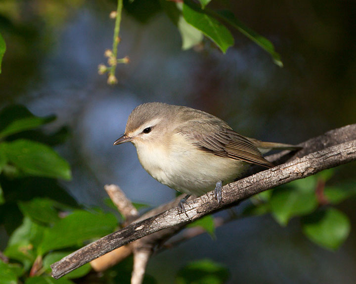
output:
[{"label": "long narrow green leaf at top, slanting down to the right", "polygon": [[229,10],[223,10],[219,12],[213,12],[216,17],[219,17],[229,23],[232,27],[236,28],[242,34],[250,38],[256,44],[265,49],[273,59],[273,62],[279,67],[283,67],[283,63],[280,59],[280,55],[274,50],[273,44],[264,36],[257,34],[255,31],[251,30],[249,27],[245,26],[240,22],[235,15]]}]

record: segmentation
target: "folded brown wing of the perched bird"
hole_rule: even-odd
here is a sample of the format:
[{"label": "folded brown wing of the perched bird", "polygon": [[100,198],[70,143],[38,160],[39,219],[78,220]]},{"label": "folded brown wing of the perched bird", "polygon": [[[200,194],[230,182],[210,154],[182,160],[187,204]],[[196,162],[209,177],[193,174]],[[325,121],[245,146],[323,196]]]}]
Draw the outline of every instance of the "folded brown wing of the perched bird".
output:
[{"label": "folded brown wing of the perched bird", "polygon": [[267,168],[273,167],[253,142],[233,131],[223,120],[214,119],[219,120],[219,123],[211,121],[211,117],[207,120],[189,120],[176,131],[203,151]]}]

